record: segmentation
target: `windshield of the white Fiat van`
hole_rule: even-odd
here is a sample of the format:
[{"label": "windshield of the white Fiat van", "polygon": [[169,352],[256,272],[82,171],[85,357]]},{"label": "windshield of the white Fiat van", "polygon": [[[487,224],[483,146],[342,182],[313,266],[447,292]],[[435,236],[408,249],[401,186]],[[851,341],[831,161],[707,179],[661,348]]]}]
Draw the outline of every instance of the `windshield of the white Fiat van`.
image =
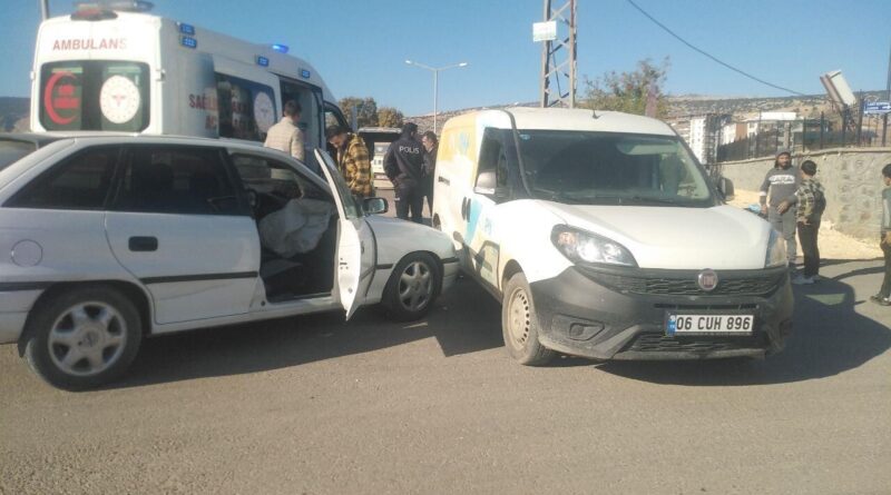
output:
[{"label": "windshield of the white Fiat van", "polygon": [[711,207],[717,202],[679,138],[520,130],[529,194],[571,205]]}]

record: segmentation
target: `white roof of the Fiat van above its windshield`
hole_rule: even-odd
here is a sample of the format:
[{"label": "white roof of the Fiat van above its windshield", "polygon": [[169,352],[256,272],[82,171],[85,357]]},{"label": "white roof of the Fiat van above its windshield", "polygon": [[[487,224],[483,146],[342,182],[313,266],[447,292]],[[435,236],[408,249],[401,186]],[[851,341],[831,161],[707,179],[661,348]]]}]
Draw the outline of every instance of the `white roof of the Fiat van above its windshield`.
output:
[{"label": "white roof of the Fiat van above its windshield", "polygon": [[[477,113],[490,111],[500,112],[500,110],[482,110]],[[505,111],[513,116],[517,129],[588,130],[675,136],[674,129],[660,120],[619,111],[528,107],[507,108]]]}]

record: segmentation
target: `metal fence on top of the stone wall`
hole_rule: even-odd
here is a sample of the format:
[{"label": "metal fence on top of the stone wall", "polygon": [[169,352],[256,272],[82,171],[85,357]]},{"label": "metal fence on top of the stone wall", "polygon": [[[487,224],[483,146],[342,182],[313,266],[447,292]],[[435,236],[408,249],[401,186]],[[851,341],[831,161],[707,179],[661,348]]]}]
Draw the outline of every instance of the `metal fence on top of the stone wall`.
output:
[{"label": "metal fence on top of the stone wall", "polygon": [[[882,132],[887,132],[882,139]],[[884,142],[884,143],[883,143]],[[747,160],[776,155],[780,150],[793,154],[826,148],[878,147],[891,145],[891,132],[884,129],[882,119],[864,119],[859,130],[845,129],[838,120],[820,119],[776,122],[745,139],[717,147],[717,161]]]}]

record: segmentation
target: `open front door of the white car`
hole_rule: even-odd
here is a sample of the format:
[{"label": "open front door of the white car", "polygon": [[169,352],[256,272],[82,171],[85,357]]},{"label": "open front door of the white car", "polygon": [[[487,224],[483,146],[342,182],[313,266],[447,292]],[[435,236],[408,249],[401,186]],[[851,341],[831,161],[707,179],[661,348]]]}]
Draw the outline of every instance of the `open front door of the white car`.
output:
[{"label": "open front door of the white car", "polygon": [[376,258],[374,235],[365,222],[362,207],[353,198],[350,187],[337,171],[334,160],[323,150],[315,150],[315,159],[331,186],[340,215],[337,229],[336,290],[346,319],[353,316],[365,299],[365,293],[374,276]]}]

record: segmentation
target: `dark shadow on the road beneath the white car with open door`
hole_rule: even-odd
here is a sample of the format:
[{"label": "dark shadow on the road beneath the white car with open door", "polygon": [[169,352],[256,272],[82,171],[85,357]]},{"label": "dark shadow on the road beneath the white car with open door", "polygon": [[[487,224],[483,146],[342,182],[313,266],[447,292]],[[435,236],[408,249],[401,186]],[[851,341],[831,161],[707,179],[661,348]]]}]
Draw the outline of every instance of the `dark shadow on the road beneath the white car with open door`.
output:
[{"label": "dark shadow on the road beneath the white car with open door", "polygon": [[[473,300],[472,310],[457,303]],[[143,341],[127,375],[105,388],[128,388],[298,366],[435,338],[446,357],[501,347],[498,303],[460,279],[427,318],[393,323],[373,307],[344,321],[326,313],[206,328]]]}]

